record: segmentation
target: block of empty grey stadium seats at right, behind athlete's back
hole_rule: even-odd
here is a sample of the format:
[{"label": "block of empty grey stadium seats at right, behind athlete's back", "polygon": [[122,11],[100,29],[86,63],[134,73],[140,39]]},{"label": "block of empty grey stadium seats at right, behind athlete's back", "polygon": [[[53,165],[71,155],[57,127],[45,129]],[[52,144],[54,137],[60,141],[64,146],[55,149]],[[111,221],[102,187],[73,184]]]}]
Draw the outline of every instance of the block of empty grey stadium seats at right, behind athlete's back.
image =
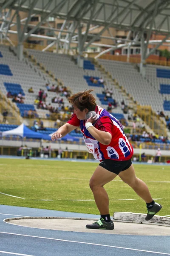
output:
[{"label": "block of empty grey stadium seats at right, behind athlete's back", "polygon": [[[159,85],[156,87],[154,83],[157,79],[156,67],[147,65],[147,79],[144,79],[130,63],[103,59],[99,59],[99,63],[102,64],[106,70],[112,74],[113,78],[115,78],[120,85],[125,87],[127,92],[141,105],[151,105],[155,111],[164,111],[164,99],[159,92]],[[151,73],[152,75],[150,76]]]}]

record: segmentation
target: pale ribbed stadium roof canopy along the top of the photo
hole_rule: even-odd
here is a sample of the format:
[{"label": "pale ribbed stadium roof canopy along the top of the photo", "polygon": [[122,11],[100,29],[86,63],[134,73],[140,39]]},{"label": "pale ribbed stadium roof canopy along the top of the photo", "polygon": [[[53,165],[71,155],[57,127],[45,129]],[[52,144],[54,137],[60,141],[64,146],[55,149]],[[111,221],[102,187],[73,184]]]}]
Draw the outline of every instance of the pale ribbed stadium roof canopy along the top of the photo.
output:
[{"label": "pale ribbed stadium roof canopy along the top of the photo", "polygon": [[170,31],[170,0],[0,0],[0,8],[133,31],[152,22],[153,31]]}]

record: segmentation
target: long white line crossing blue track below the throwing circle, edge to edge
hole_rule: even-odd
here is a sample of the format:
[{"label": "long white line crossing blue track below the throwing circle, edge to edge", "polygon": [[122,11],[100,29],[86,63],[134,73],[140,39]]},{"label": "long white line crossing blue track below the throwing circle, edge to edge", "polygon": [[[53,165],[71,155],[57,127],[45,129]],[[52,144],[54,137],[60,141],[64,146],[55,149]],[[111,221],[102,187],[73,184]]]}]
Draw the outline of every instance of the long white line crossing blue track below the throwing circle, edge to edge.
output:
[{"label": "long white line crossing blue track below the throwing circle, edge to edge", "polygon": [[91,245],[104,246],[104,247],[111,247],[111,248],[118,248],[118,249],[125,249],[125,250],[134,250],[134,251],[146,252],[146,253],[157,253],[157,254],[162,254],[162,255],[170,255],[170,253],[160,253],[160,252],[154,252],[154,251],[148,251],[148,250],[139,250],[139,249],[133,249],[133,248],[119,247],[119,246],[113,246],[113,245],[106,245],[106,244],[94,244],[94,243],[87,243],[87,242],[80,242],[80,241],[71,241],[71,240],[63,240],[63,239],[49,238],[49,237],[43,237],[43,236],[28,236],[28,235],[16,234],[16,233],[8,233],[8,232],[0,232],[0,233],[8,234],[8,235],[15,235],[15,236],[26,236],[26,237],[35,237],[35,238],[48,239],[48,240],[55,240],[55,241],[63,241],[63,242],[70,242],[70,243],[78,243],[78,244],[91,244]]}]

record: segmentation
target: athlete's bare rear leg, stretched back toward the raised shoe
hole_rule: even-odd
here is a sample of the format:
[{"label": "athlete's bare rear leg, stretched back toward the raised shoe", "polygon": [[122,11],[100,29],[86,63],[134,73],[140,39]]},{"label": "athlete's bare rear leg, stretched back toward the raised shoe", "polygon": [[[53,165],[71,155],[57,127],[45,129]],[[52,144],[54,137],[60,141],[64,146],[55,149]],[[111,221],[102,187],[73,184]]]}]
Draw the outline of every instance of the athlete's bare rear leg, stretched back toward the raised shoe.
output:
[{"label": "athlete's bare rear leg, stretched back toward the raised shoe", "polygon": [[120,172],[119,177],[131,186],[136,194],[139,195],[146,203],[153,201],[147,185],[143,180],[136,177],[133,164],[127,170]]}]

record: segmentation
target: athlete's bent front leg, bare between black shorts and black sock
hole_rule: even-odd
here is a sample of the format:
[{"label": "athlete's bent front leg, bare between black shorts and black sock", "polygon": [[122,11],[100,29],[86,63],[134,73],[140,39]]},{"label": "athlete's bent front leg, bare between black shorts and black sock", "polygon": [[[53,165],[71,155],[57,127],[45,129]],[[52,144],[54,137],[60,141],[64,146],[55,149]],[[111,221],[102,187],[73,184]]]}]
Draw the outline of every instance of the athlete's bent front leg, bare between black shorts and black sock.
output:
[{"label": "athlete's bent front leg, bare between black shorts and black sock", "polygon": [[115,173],[106,170],[102,166],[97,166],[91,177],[90,188],[101,215],[109,214],[109,198],[103,186],[116,176]]}]

